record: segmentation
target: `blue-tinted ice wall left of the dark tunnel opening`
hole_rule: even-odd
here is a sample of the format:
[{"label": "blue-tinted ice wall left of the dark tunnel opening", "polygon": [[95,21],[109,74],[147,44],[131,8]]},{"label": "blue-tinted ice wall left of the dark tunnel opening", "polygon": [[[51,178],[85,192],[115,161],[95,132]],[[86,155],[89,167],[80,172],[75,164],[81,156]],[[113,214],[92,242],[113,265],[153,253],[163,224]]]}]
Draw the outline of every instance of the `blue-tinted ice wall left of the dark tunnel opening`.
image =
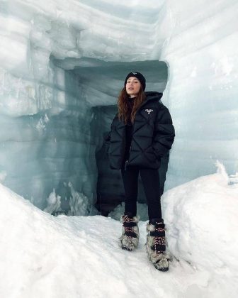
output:
[{"label": "blue-tinted ice wall left of the dark tunnel opening", "polygon": [[[0,117],[4,183],[40,208],[53,188],[62,199],[69,197],[69,182],[92,202],[95,184],[96,167],[89,158],[93,154],[89,104],[82,97],[78,100],[81,90],[74,74],[52,67],[52,75],[52,82],[45,84],[6,74],[11,82],[2,81],[6,87]],[[11,95],[16,82],[21,89],[16,90],[18,96]],[[31,83],[38,94],[29,98]]]}]

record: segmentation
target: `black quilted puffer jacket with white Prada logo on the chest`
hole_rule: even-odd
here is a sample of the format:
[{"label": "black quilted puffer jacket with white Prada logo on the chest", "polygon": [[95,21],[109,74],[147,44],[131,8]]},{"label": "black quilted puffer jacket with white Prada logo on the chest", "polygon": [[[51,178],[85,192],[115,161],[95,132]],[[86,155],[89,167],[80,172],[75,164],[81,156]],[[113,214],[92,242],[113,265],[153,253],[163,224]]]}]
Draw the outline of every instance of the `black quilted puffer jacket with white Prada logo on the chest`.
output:
[{"label": "black quilted puffer jacket with white Prada logo on the chest", "polygon": [[157,169],[160,158],[171,148],[174,142],[174,126],[169,110],[159,99],[162,93],[145,92],[147,98],[135,115],[132,143],[128,160],[123,162],[125,155],[125,122],[115,115],[111,124],[108,156],[111,169],[137,166],[140,168]]}]

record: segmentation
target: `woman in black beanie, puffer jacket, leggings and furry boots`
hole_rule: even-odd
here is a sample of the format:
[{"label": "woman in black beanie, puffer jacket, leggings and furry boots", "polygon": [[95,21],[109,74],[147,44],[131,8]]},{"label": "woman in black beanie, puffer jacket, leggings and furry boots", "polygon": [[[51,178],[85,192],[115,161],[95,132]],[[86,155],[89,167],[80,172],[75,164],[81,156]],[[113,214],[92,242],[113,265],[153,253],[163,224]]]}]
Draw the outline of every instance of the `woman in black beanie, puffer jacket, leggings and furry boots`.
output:
[{"label": "woman in black beanie, puffer jacket, leggings and furry boots", "polygon": [[125,213],[120,247],[134,250],[139,242],[137,223],[138,175],[148,203],[147,255],[158,270],[169,270],[164,221],[159,194],[160,159],[174,142],[169,110],[159,102],[162,93],[145,92],[140,72],[130,72],[118,97],[118,114],[111,124],[108,156],[112,169],[120,169],[125,189]]}]

